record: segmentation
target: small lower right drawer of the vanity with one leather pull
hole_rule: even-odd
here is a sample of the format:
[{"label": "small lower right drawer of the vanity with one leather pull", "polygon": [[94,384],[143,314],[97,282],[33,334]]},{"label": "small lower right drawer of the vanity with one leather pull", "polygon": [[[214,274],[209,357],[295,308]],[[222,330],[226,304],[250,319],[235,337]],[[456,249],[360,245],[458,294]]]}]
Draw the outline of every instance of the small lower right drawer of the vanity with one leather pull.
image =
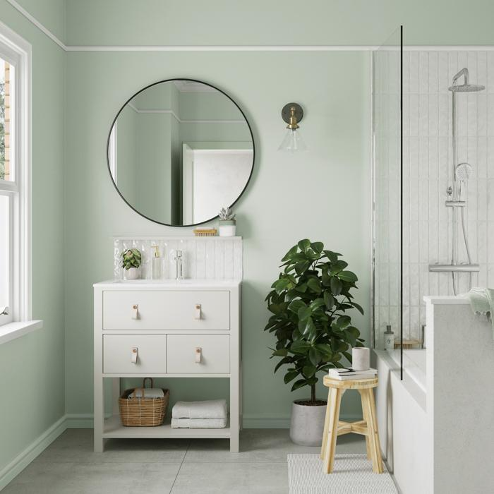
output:
[{"label": "small lower right drawer of the vanity with one leather pull", "polygon": [[[196,349],[200,349],[200,353]],[[229,372],[229,335],[167,336],[167,373],[228,374]]]}]

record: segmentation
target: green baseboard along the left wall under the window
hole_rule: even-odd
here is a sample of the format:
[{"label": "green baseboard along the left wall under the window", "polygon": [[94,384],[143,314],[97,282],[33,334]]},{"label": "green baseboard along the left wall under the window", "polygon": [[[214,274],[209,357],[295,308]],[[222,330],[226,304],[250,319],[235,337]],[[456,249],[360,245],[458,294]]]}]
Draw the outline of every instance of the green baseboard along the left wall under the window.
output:
[{"label": "green baseboard along the left wall under the window", "polygon": [[20,452],[9,464],[0,470],[0,490],[13,480],[28,464],[66,430],[66,416],[59,418],[51,427]]}]

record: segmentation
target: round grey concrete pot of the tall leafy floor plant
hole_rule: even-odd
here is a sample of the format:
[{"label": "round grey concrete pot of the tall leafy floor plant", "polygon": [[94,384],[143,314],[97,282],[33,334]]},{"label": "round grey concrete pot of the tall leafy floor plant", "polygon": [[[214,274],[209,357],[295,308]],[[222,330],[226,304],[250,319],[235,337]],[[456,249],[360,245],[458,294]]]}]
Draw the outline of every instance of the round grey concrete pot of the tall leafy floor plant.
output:
[{"label": "round grey concrete pot of the tall leafy floor plant", "polygon": [[322,445],[325,415],[325,404],[308,406],[294,402],[291,406],[290,439],[301,446]]}]

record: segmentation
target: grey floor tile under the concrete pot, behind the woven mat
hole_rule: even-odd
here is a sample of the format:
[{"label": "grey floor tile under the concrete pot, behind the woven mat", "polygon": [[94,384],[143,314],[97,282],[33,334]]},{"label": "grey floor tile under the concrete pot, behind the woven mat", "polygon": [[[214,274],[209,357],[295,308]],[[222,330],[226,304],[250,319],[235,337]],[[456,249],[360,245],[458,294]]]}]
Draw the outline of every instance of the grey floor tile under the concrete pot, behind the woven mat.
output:
[{"label": "grey floor tile under the concrete pot, behind the woven mat", "polygon": [[[295,445],[287,429],[244,429],[240,449],[239,453],[230,453],[227,440],[191,440],[184,463],[286,463],[287,454],[320,452],[320,447]],[[366,452],[365,440],[353,434],[341,436],[337,452]]]}]

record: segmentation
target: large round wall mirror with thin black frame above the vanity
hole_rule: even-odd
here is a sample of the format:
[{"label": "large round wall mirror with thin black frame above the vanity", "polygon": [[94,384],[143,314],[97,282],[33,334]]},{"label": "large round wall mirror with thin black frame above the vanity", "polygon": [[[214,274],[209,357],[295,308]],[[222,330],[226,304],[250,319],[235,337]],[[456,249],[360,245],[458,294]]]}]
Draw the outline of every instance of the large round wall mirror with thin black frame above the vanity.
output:
[{"label": "large round wall mirror with thin black frame above the vanity", "polygon": [[210,84],[163,80],[130,98],[108,138],[119,194],[153,222],[186,227],[236,203],[251,178],[254,141],[239,106]]}]

